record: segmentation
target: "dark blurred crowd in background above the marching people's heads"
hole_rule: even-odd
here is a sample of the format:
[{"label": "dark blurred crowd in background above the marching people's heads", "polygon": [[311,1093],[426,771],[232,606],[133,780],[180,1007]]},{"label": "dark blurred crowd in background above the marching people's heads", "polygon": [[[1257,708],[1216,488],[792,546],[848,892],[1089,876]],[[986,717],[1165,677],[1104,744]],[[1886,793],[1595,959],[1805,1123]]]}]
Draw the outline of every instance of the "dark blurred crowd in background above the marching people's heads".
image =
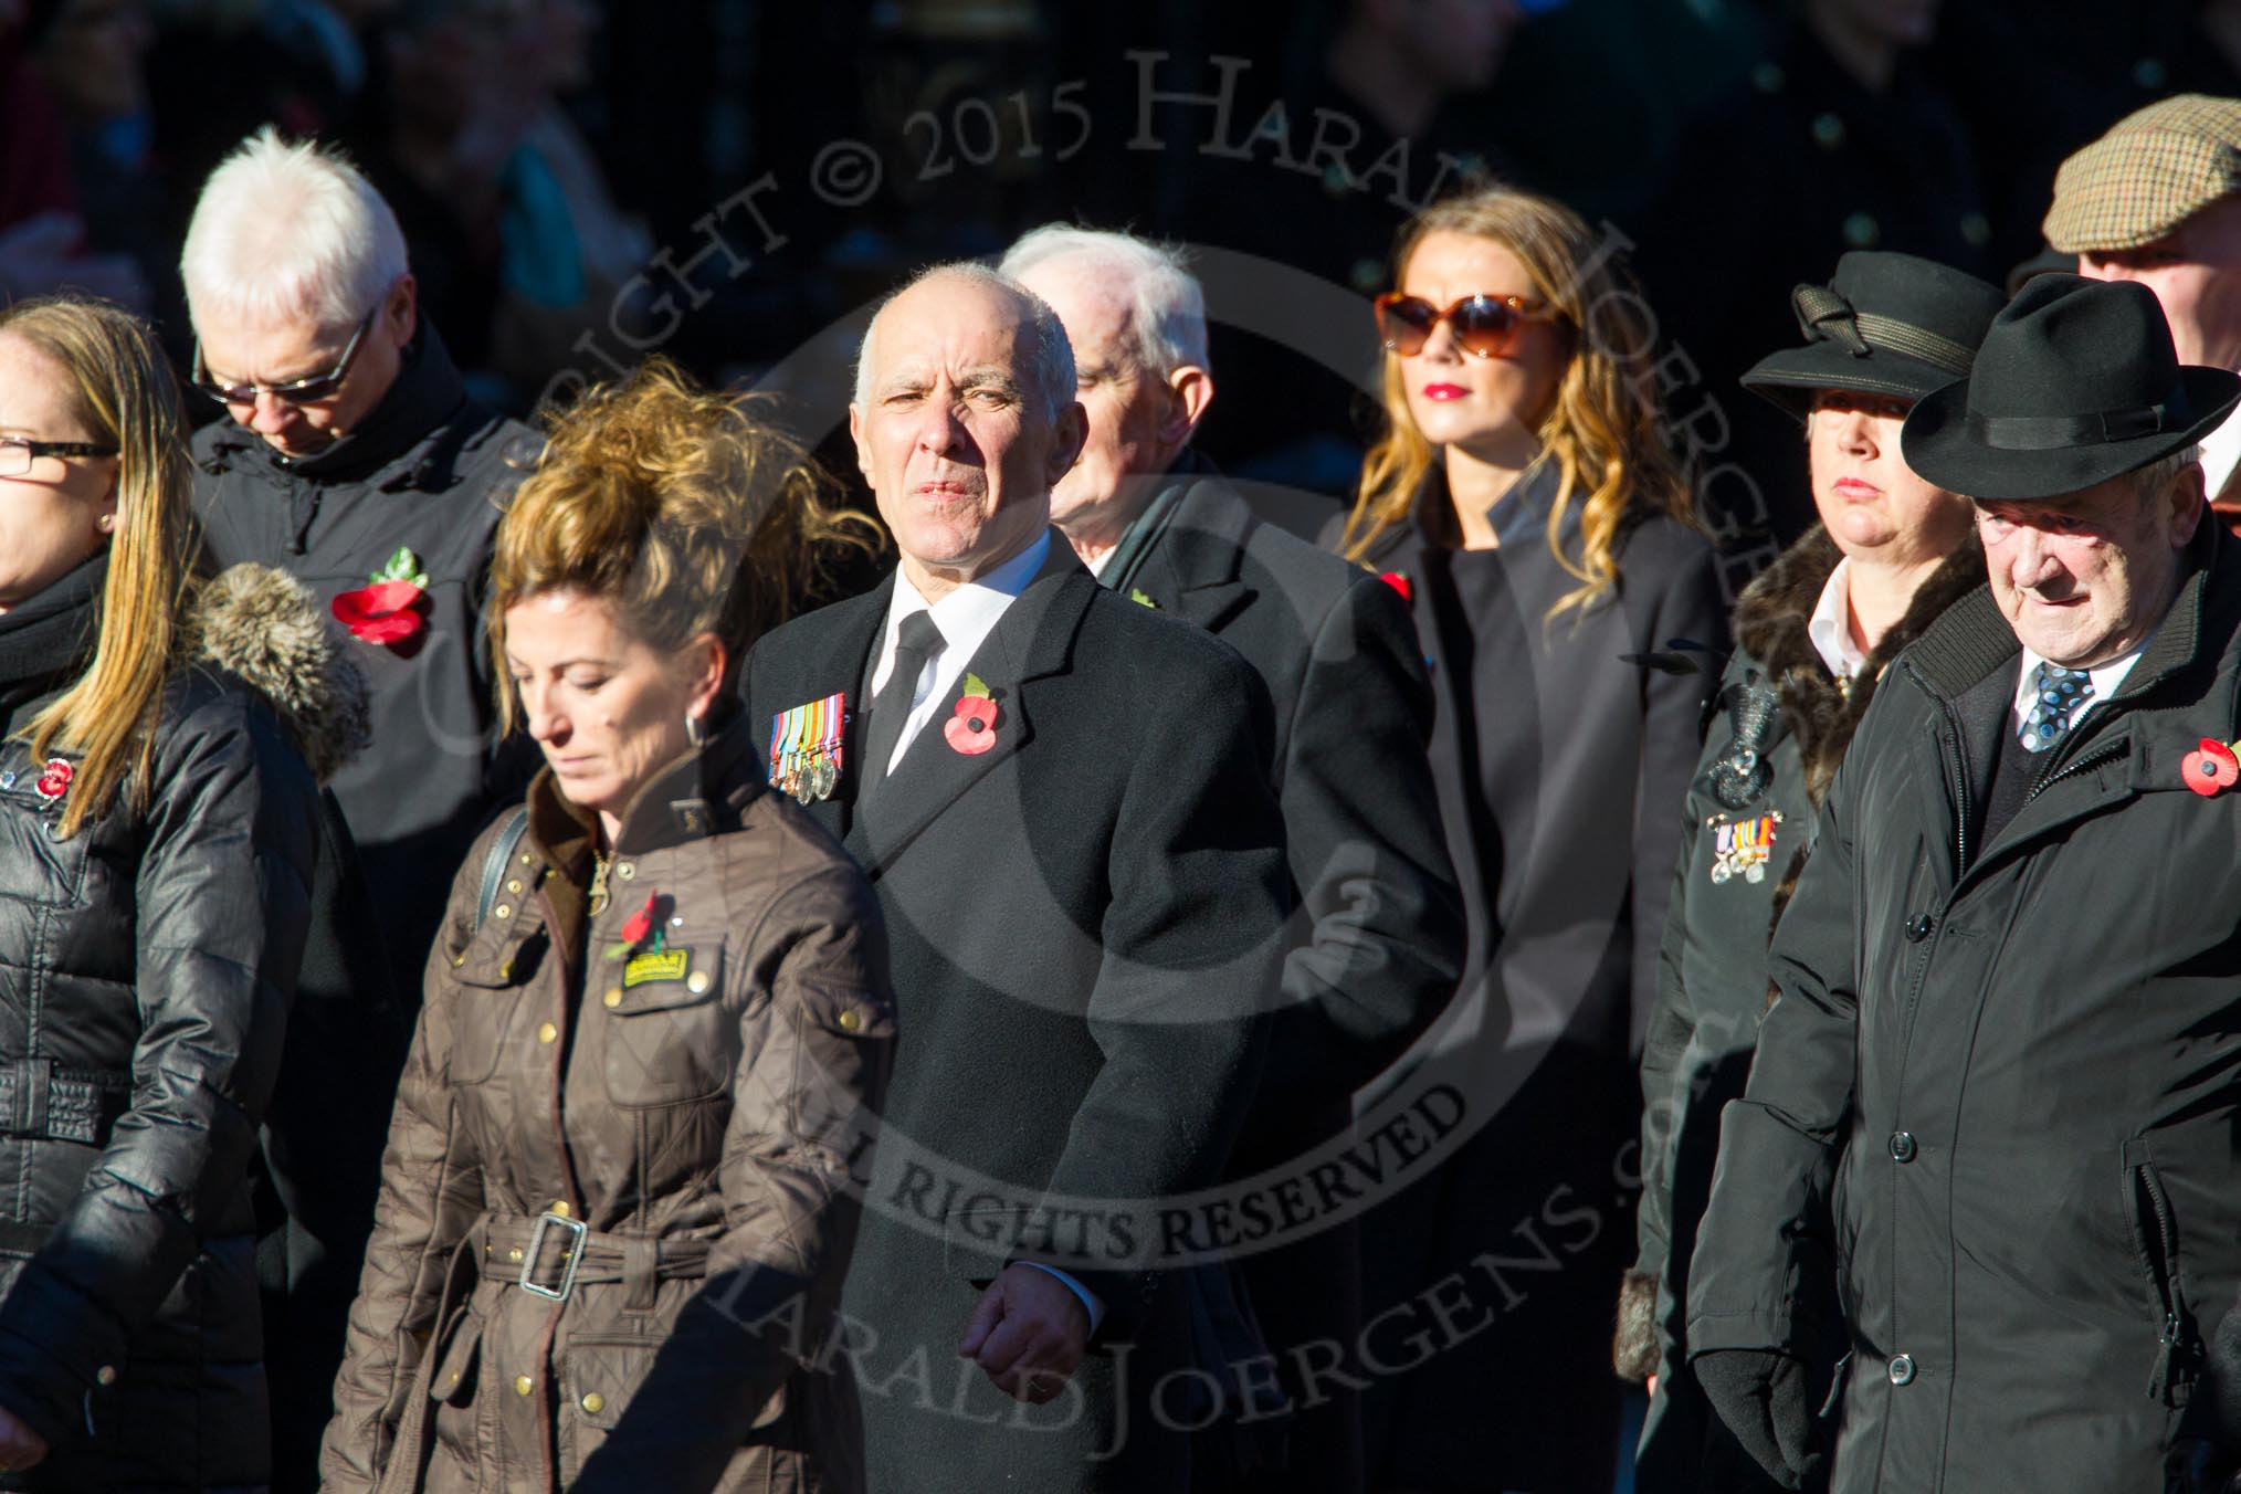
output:
[{"label": "dark blurred crowd in background above the marching people's heads", "polygon": [[0,293],[114,296],[184,367],[186,215],[271,121],[368,168],[500,408],[659,349],[784,390],[849,473],[881,291],[1129,226],[1208,284],[1199,448],[1311,531],[1394,228],[1495,172],[1631,253],[1699,502],[1764,555],[1811,506],[1735,374],[1788,289],[1847,249],[2006,278],[2062,157],[2172,92],[2241,92],[2241,0],[0,0]]}]

